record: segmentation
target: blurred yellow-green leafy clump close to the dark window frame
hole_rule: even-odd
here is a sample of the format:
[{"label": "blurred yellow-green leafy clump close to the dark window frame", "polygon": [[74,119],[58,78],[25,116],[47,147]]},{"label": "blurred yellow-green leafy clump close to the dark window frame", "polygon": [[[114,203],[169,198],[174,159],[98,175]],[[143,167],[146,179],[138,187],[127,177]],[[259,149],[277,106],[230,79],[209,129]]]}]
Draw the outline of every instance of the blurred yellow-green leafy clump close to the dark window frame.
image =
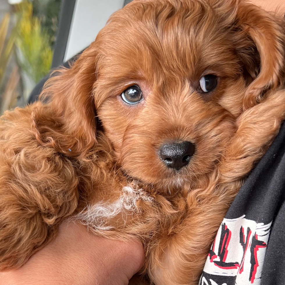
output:
[{"label": "blurred yellow-green leafy clump close to the dark window frame", "polygon": [[17,25],[16,46],[20,52],[18,63],[30,79],[37,83],[50,70],[53,51],[49,35],[40,19],[33,16],[33,4],[23,1],[18,6],[20,19]]}]

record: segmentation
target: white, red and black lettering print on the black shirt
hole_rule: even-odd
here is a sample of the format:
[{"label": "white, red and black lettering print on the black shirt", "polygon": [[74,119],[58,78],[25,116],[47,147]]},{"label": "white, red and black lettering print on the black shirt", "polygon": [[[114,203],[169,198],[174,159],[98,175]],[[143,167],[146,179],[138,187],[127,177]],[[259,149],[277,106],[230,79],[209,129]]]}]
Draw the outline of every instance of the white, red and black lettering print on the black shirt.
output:
[{"label": "white, red and black lettering print on the black shirt", "polygon": [[[259,285],[271,222],[224,219],[208,254],[200,285]],[[222,283],[219,282],[222,276]],[[225,282],[225,280],[227,280]]]}]

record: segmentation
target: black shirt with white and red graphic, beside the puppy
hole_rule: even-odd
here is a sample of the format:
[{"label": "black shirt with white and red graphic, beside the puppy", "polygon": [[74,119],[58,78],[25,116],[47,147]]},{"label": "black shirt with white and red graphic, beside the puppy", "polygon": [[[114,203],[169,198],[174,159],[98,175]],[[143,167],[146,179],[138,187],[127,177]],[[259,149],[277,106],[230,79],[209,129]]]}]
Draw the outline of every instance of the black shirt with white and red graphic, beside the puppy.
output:
[{"label": "black shirt with white and red graphic, beside the puppy", "polygon": [[200,285],[285,285],[285,124],[218,230]]}]

